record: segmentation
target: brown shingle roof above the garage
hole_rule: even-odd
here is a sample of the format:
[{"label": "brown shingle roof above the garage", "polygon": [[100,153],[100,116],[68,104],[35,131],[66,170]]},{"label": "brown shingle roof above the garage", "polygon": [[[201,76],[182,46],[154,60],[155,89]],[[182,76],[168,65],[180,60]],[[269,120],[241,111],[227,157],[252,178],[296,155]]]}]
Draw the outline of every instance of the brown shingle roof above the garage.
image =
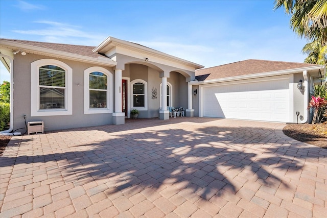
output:
[{"label": "brown shingle roof above the garage", "polygon": [[198,81],[222,79],[228,77],[245,76],[251,74],[260,74],[263,72],[274,72],[280,70],[296,69],[317,64],[294,63],[283,61],[265,61],[249,59],[235,63],[224,64],[215,67],[198,69],[195,71]]}]

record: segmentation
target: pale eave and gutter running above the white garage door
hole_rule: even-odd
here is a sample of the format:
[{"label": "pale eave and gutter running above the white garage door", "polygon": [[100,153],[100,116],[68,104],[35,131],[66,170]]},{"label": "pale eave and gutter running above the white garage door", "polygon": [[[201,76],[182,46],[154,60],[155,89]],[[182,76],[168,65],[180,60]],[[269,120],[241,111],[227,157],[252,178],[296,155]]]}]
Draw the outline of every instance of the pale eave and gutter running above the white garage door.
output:
[{"label": "pale eave and gutter running above the white garage door", "polygon": [[191,84],[192,85],[200,85],[200,84],[209,84],[209,83],[229,82],[229,81],[236,81],[236,80],[247,80],[247,79],[272,77],[272,76],[280,76],[280,75],[287,75],[287,74],[296,74],[297,72],[302,72],[305,70],[311,71],[311,70],[319,70],[319,69],[323,69],[325,72],[326,66],[325,65],[317,65],[317,66],[301,67],[301,68],[288,69],[288,70],[261,72],[259,74],[242,75],[242,76],[237,76],[237,77],[226,77],[226,78],[204,80],[204,81],[191,81]]}]

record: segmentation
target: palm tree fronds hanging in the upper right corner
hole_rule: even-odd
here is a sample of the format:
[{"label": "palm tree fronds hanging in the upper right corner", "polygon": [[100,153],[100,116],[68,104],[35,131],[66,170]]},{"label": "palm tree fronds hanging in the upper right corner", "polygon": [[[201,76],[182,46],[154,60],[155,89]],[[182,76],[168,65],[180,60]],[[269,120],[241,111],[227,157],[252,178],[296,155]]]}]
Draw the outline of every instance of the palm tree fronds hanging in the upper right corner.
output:
[{"label": "palm tree fronds hanging in the upper right corner", "polygon": [[[291,14],[290,25],[300,37],[312,42],[303,47],[308,61],[316,55],[318,64],[326,64],[327,55],[327,1],[326,0],[275,0],[274,9],[284,7]],[[319,48],[319,52],[317,51]],[[308,53],[309,52],[309,53]],[[306,60],[307,60],[306,59]],[[312,63],[312,62],[311,62]]]}]

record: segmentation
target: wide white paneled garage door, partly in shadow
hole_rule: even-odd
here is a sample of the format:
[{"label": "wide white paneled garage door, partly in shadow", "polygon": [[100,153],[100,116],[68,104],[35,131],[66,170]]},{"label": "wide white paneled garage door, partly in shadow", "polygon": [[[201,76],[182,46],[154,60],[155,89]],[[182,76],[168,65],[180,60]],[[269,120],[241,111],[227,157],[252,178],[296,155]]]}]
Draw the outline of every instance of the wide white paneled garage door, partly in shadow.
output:
[{"label": "wide white paneled garage door, partly in shadow", "polygon": [[202,89],[206,117],[289,122],[289,79],[217,85]]}]

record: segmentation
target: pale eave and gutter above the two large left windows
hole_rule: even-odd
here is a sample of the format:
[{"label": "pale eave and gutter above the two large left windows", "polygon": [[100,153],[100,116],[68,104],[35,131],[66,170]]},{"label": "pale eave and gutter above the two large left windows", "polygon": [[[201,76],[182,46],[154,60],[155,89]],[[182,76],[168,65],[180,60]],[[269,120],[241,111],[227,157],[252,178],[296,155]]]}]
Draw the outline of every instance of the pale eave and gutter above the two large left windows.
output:
[{"label": "pale eave and gutter above the two large left windows", "polygon": [[88,63],[100,63],[103,65],[107,66],[115,66],[116,62],[112,61],[110,58],[92,58],[92,57],[87,57],[83,55],[77,55],[73,53],[68,53],[68,52],[62,52],[58,50],[53,50],[53,49],[45,49],[43,47],[39,46],[34,46],[34,45],[27,45],[24,43],[19,43],[19,42],[13,42],[13,41],[7,41],[7,40],[1,40],[0,39],[0,45],[2,46],[9,46],[13,50],[24,50],[27,53],[32,53],[32,54],[38,54],[38,55],[46,55],[46,56],[52,56],[52,57],[57,57],[57,58],[63,58],[63,59],[70,59],[70,60],[76,60],[76,61],[83,61],[83,62],[88,62]]}]

